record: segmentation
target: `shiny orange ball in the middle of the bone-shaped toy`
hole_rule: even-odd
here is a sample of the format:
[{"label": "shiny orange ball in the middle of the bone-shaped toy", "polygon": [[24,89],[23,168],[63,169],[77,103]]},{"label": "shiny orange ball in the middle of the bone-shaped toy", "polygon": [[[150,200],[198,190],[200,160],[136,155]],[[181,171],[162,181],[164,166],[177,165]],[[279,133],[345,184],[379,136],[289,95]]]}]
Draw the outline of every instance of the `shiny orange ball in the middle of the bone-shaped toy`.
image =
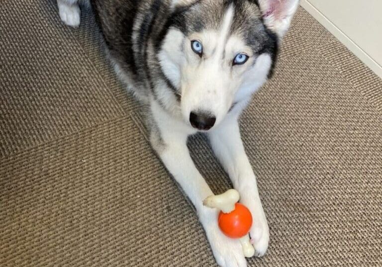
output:
[{"label": "shiny orange ball in the middle of the bone-shaped toy", "polygon": [[236,203],[230,213],[220,211],[218,217],[220,230],[230,238],[241,238],[248,234],[252,226],[252,214],[243,204]]}]

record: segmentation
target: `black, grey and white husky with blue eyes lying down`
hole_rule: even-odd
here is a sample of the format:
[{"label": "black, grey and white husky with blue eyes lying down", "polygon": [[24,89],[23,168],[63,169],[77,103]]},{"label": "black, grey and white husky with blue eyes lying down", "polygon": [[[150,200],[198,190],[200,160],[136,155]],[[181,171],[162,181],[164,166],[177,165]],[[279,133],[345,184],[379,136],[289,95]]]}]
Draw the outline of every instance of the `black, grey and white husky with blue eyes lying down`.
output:
[{"label": "black, grey and white husky with blue eyes lying down", "polygon": [[[205,133],[216,157],[252,212],[257,256],[269,228],[238,118],[272,75],[278,47],[298,0],[81,0],[90,4],[106,53],[126,87],[147,110],[152,147],[196,208],[222,267],[245,267],[239,241],[217,227],[213,194],[195,168],[188,136]],[[79,0],[57,0],[60,17],[80,24]]]}]

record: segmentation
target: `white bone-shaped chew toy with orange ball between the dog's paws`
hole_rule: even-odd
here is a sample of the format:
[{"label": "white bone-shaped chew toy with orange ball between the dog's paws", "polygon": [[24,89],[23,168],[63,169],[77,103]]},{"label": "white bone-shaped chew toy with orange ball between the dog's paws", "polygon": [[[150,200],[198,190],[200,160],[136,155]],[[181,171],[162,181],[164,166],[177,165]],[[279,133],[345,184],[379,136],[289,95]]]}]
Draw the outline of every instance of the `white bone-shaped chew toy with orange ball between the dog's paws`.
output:
[{"label": "white bone-shaped chew toy with orange ball between the dog's paws", "polygon": [[237,203],[239,199],[239,192],[229,189],[220,195],[207,197],[203,205],[220,210],[218,217],[220,230],[230,238],[238,238],[243,247],[244,256],[251,258],[255,255],[255,249],[248,236],[252,226],[252,215],[246,206]]}]

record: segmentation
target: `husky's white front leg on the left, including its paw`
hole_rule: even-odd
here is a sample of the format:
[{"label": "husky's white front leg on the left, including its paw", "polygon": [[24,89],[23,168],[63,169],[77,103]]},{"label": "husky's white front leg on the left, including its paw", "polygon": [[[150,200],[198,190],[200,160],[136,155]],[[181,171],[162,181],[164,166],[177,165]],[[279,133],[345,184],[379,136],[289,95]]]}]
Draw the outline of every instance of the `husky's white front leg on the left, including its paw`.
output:
[{"label": "husky's white front leg on the left, including its paw", "polygon": [[[157,117],[160,116],[158,113],[155,114]],[[187,134],[170,124],[171,118],[164,118],[152,126],[150,139],[153,148],[195,206],[218,265],[246,267],[240,242],[225,237],[218,228],[217,211],[203,206],[203,200],[213,193],[192,162]]]}]

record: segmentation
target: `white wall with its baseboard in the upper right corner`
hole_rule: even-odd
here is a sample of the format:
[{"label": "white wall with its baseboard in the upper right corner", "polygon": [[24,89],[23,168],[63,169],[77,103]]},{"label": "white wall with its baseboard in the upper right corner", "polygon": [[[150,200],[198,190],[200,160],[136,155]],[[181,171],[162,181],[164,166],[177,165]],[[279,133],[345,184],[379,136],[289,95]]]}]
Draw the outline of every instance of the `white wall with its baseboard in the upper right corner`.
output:
[{"label": "white wall with its baseboard in the upper right corner", "polygon": [[301,6],[382,78],[382,0],[301,0]]}]

